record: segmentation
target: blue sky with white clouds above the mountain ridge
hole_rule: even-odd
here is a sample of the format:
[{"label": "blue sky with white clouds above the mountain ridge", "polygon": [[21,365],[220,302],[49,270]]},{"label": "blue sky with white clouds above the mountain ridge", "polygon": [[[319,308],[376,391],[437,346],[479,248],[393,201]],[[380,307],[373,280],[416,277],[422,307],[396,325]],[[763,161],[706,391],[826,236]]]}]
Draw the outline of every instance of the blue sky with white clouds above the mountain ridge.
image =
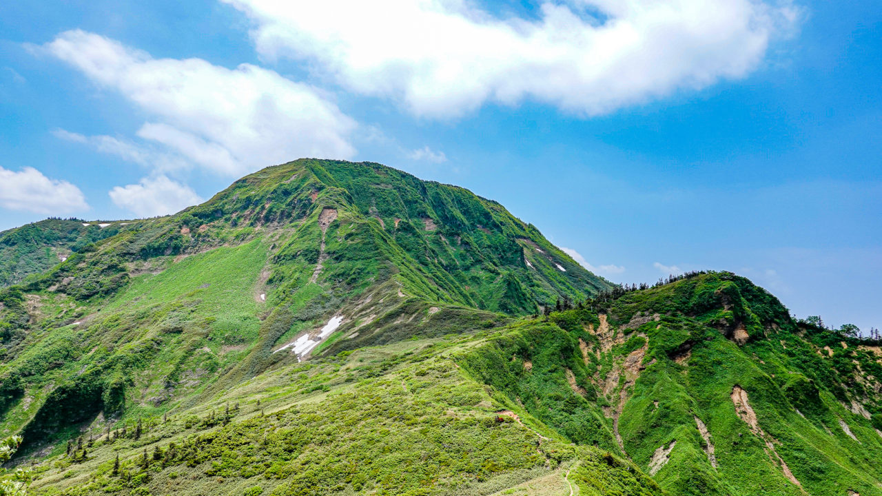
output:
[{"label": "blue sky with white clouds above the mountain ridge", "polygon": [[0,229],[300,157],[495,199],[613,282],[882,327],[876,0],[0,3]]}]

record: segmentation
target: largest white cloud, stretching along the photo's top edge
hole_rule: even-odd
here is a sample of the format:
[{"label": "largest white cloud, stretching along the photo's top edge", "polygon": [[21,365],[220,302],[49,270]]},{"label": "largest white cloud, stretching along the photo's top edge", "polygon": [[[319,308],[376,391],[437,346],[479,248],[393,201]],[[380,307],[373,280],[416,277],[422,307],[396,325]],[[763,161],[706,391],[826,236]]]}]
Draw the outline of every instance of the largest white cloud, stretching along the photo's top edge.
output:
[{"label": "largest white cloud, stretching along the photo's top edge", "polygon": [[467,0],[221,1],[252,20],[262,56],[441,117],[527,99],[590,116],[741,78],[800,13],[790,0],[542,0],[536,19]]}]

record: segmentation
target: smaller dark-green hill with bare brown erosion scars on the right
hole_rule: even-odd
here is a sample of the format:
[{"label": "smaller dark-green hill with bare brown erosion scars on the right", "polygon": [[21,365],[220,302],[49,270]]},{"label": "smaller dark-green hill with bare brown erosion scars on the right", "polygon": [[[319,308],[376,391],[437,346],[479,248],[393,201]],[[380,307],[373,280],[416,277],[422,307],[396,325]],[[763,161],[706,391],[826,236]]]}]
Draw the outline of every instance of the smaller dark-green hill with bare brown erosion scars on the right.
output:
[{"label": "smaller dark-green hill with bare brown erosion scars on the right", "polygon": [[799,327],[728,273],[591,301],[546,326],[501,334],[465,368],[668,492],[882,494],[878,343]]}]

